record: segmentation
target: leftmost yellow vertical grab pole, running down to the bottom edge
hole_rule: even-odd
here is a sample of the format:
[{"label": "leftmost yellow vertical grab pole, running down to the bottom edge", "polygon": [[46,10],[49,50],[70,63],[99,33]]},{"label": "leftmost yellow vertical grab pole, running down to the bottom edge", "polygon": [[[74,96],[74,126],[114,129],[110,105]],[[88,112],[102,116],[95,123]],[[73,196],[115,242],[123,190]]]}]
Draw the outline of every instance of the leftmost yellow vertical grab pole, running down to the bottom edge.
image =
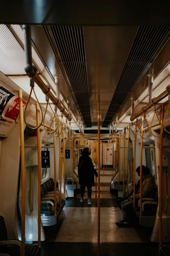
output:
[{"label": "leftmost yellow vertical grab pole, running down to the bottom edge", "polygon": [[20,144],[21,144],[21,256],[25,256],[25,159],[22,91],[18,91],[20,108]]}]

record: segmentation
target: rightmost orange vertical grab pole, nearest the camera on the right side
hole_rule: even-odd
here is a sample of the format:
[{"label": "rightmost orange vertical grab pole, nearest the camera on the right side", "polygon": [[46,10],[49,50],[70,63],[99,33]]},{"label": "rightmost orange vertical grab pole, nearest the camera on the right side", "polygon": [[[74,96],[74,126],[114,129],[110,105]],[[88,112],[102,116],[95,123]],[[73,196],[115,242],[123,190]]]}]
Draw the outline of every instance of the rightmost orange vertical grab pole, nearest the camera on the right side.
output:
[{"label": "rightmost orange vertical grab pole, nearest the camera on the right side", "polygon": [[[161,123],[164,118],[164,104],[162,104]],[[159,245],[162,245],[162,155],[163,155],[163,133],[160,136],[159,152]]]}]

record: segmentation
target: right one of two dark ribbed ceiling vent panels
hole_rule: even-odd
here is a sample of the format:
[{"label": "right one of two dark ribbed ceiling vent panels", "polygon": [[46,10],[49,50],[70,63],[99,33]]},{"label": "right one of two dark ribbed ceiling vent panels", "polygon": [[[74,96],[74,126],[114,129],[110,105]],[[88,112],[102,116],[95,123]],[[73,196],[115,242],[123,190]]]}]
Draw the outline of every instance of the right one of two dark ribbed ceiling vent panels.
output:
[{"label": "right one of two dark ribbed ceiling vent panels", "polygon": [[157,57],[156,52],[169,31],[169,26],[139,27],[102,127],[107,127],[116,117]]}]

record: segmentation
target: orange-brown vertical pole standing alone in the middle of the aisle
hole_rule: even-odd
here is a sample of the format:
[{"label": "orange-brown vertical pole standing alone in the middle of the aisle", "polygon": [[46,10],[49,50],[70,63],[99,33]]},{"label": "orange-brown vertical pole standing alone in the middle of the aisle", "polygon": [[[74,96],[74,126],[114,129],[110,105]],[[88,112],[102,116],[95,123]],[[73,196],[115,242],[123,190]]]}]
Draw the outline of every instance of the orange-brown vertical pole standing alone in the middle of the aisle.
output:
[{"label": "orange-brown vertical pole standing alone in the middle of the aisle", "polygon": [[98,204],[97,204],[97,256],[100,256],[100,104],[98,103]]}]

